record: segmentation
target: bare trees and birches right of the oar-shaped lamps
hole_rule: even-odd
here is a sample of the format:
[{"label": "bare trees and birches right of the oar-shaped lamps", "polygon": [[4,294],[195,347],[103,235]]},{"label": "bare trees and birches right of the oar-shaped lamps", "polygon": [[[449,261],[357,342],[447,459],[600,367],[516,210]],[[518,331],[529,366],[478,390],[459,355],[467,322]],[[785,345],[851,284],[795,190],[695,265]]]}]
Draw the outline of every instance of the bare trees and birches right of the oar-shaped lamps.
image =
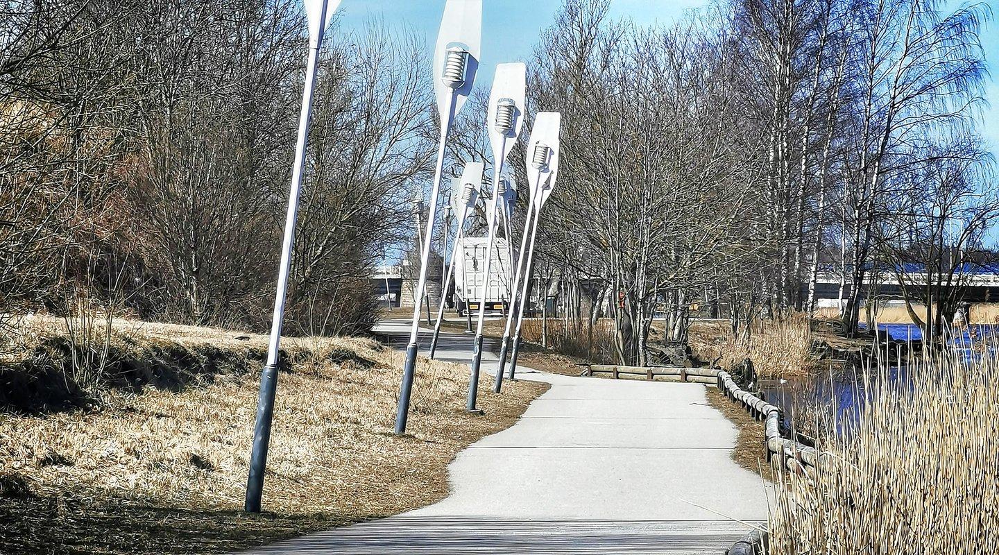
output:
[{"label": "bare trees and birches right of the oar-shaped lamps", "polygon": [[819,274],[853,330],[882,275],[914,281],[917,323],[950,321],[999,210],[976,132],[987,6],[737,0],[652,28],[608,8],[565,3],[529,90],[564,126],[541,265],[588,285],[590,317],[610,307],[620,361],[684,341],[698,303],[745,332],[813,313]]}]

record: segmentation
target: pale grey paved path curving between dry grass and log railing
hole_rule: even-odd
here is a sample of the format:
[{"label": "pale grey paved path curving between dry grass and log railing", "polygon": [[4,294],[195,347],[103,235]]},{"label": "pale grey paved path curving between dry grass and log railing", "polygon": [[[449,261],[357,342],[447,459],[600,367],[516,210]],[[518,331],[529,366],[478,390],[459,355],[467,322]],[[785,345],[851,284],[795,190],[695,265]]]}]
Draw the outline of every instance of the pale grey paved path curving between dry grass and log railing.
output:
[{"label": "pale grey paved path curving between dry grass and log railing", "polygon": [[[380,331],[406,347],[405,323]],[[443,334],[439,358],[468,361],[471,346]],[[732,462],[736,430],[704,385],[517,374],[551,388],[458,455],[447,499],[253,553],[719,554],[766,519],[763,481]]]}]

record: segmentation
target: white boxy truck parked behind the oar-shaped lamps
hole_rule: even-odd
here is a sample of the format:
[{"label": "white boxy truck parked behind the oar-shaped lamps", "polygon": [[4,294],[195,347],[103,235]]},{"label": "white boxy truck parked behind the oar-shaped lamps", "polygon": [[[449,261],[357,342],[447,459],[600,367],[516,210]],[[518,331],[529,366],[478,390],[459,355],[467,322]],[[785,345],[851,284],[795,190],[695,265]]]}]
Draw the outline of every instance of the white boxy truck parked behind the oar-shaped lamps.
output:
[{"label": "white boxy truck parked behind the oar-shaped lamps", "polygon": [[[455,265],[455,308],[465,315],[466,310],[478,312],[483,286],[487,287],[486,311],[501,312],[509,301],[509,288],[512,286],[510,252],[505,239],[496,239],[493,246],[493,264],[490,266],[490,282],[486,280],[487,238],[464,238],[458,245]],[[515,263],[515,260],[513,262]]]}]

